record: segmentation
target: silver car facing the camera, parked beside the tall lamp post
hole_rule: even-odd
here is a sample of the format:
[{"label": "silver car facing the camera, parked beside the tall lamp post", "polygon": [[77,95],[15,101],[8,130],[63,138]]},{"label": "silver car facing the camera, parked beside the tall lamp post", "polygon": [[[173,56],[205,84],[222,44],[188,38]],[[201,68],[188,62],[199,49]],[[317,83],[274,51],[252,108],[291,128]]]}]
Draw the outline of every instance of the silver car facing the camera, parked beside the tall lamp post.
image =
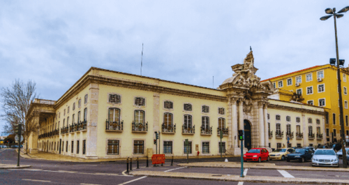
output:
[{"label": "silver car facing the camera, parked beside the tall lamp post", "polygon": [[333,149],[316,149],[313,158],[311,158],[313,166],[335,166],[339,167],[339,158]]}]

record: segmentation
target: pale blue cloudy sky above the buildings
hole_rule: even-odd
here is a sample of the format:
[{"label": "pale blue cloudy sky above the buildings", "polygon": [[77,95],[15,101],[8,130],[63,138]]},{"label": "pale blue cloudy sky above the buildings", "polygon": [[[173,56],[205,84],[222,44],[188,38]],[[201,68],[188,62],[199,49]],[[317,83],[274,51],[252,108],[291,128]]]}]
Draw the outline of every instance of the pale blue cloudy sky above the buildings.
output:
[{"label": "pale blue cloudy sky above the buildings", "polygon": [[[0,1],[0,87],[34,80],[57,100],[91,66],[202,87],[232,75],[251,45],[261,79],[336,57],[325,8],[348,1]],[[337,21],[349,63],[349,13]],[[0,110],[1,113],[1,110]],[[0,132],[4,122],[0,121]]]}]

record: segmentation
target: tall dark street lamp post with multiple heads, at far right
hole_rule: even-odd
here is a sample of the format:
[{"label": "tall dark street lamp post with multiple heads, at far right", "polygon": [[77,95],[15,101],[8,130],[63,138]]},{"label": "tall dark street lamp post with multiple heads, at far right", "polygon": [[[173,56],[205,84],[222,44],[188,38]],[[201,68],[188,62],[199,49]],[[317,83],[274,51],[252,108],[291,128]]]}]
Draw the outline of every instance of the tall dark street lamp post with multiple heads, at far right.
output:
[{"label": "tall dark street lamp post with multiple heads, at far right", "polygon": [[[332,14],[334,17],[334,35],[336,37],[336,61],[337,61],[337,79],[338,79],[338,91],[339,91],[339,112],[341,114],[341,116],[339,117],[339,121],[341,124],[341,140],[342,140],[342,151],[343,151],[343,168],[348,168],[347,166],[347,158],[346,158],[346,147],[345,147],[345,143],[346,143],[346,138],[344,137],[344,121],[343,121],[343,101],[342,101],[342,87],[341,87],[341,68],[340,68],[340,63],[341,65],[344,64],[344,61],[339,61],[339,52],[338,52],[338,40],[337,40],[337,26],[336,26],[336,18],[341,18],[344,15],[340,14],[340,13],[346,13],[349,10],[349,6],[347,6],[346,8],[343,8],[341,10],[339,10],[338,13],[336,13],[336,8],[327,8],[325,10],[325,13],[327,14]],[[326,15],[320,18],[320,20],[327,20],[329,17],[332,17],[332,15]]]}]

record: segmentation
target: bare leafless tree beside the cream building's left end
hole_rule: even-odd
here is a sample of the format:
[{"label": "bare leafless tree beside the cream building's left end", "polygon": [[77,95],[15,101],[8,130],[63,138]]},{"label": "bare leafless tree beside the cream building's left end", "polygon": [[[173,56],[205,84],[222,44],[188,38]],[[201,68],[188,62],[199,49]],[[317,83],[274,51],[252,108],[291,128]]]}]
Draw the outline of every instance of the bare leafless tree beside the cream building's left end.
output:
[{"label": "bare leafless tree beside the cream building's left end", "polygon": [[28,138],[32,131],[38,131],[38,125],[27,124],[25,116],[29,110],[31,101],[38,98],[36,94],[36,83],[29,80],[24,84],[21,80],[15,80],[10,87],[2,88],[0,92],[1,108],[4,114],[1,118],[6,121],[3,129],[8,133],[14,133],[14,125],[22,124],[22,133],[28,149]]}]

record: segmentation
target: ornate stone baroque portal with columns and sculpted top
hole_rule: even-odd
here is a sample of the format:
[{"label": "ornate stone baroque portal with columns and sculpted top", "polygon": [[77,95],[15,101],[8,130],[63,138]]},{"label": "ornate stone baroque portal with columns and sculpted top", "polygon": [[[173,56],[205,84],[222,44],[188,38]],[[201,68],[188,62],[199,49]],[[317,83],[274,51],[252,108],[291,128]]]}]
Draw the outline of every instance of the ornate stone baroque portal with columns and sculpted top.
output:
[{"label": "ornate stone baroque portal with columns and sculpted top", "polygon": [[269,149],[268,123],[267,123],[267,96],[272,95],[274,86],[271,82],[260,82],[260,77],[255,75],[258,68],[254,66],[252,51],[244,59],[244,64],[232,66],[232,77],[219,86],[228,96],[228,152],[239,155],[239,140],[237,131],[244,129],[244,120],[249,122],[251,132],[251,146],[266,147]]}]

